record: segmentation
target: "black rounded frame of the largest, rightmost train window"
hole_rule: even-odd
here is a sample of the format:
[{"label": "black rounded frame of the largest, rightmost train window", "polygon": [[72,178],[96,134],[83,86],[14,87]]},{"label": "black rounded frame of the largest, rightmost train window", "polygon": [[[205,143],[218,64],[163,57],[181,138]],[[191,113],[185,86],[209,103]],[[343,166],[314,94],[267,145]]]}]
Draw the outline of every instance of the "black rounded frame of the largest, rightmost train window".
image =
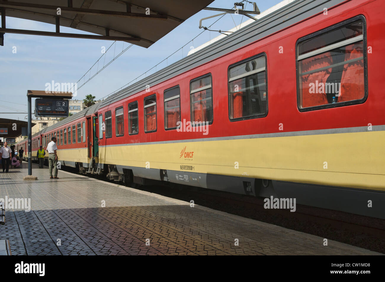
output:
[{"label": "black rounded frame of the largest, rightmost train window", "polygon": [[[298,45],[300,43],[302,43],[302,42],[305,42],[305,41],[311,40],[312,38],[318,37],[321,34],[330,32],[332,30],[337,30],[337,29],[345,27],[345,26],[347,26],[347,25],[349,25],[351,23],[359,22],[359,21],[362,21],[362,28],[363,28],[362,29],[363,70],[364,70],[364,73],[363,73],[363,78],[364,78],[364,96],[363,96],[363,98],[361,98],[359,100],[349,100],[349,101],[345,101],[345,102],[328,103],[328,104],[324,104],[324,105],[317,105],[317,106],[312,106],[312,107],[301,108],[300,107],[300,74],[299,74],[298,62],[300,60],[303,60],[303,59],[298,60],[298,57],[299,57],[298,56]],[[338,42],[338,43],[343,43],[344,41]],[[358,42],[358,41],[356,41],[356,42]],[[331,45],[328,45],[328,46],[331,46]],[[344,47],[344,46],[348,46],[348,45],[341,45],[340,47]],[[338,48],[338,47],[336,47],[336,48]],[[349,19],[344,20],[342,22],[330,25],[329,27],[323,28],[321,30],[318,30],[318,31],[313,32],[313,33],[311,33],[309,35],[306,35],[304,37],[299,38],[297,40],[297,42],[296,42],[296,45],[295,45],[296,80],[297,80],[296,81],[296,84],[297,84],[297,109],[298,109],[298,111],[299,112],[310,112],[310,111],[314,111],[314,110],[323,110],[323,109],[326,109],[326,108],[345,107],[345,106],[349,106],[349,105],[357,105],[357,104],[365,103],[365,101],[368,98],[368,58],[367,58],[368,57],[367,56],[368,55],[367,54],[367,50],[368,49],[367,48],[368,48],[367,47],[367,23],[366,23],[366,18],[363,15],[357,15],[355,17],[352,17],[352,18],[349,18]],[[319,50],[319,49],[317,49],[317,50]],[[333,49],[331,49],[331,50],[333,50]]]}]

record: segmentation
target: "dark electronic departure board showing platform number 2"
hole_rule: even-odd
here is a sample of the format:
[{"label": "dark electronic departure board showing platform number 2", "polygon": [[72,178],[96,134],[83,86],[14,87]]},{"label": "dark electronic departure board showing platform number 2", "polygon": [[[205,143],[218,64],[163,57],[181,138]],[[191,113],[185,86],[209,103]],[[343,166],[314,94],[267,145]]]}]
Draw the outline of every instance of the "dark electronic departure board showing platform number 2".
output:
[{"label": "dark electronic departure board showing platform number 2", "polygon": [[68,117],[69,103],[67,99],[36,99],[36,117]]}]

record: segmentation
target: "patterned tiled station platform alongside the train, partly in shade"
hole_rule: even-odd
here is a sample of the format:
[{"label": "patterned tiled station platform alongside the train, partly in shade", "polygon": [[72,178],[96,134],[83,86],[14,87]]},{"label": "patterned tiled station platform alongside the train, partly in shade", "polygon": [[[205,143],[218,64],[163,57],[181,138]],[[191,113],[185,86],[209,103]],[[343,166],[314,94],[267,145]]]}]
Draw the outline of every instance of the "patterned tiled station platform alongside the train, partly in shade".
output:
[{"label": "patterned tiled station platform alongside the train, partly in shade", "polygon": [[379,255],[63,170],[49,179],[37,164],[38,180],[27,174],[25,162],[0,173],[0,198],[30,199],[0,225],[12,255]]}]

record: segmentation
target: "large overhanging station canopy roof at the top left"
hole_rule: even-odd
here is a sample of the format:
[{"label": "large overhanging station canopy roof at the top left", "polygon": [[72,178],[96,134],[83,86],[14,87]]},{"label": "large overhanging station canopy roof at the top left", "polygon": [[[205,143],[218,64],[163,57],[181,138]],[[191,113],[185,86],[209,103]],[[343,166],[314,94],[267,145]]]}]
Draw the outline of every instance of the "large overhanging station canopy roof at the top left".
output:
[{"label": "large overhanging station canopy roof at the top left", "polygon": [[[56,32],[0,28],[0,32],[120,40],[149,47],[213,0],[0,0],[0,13],[56,25]],[[61,15],[57,15],[60,8]],[[146,15],[147,13],[150,15]],[[4,10],[5,9],[5,10]],[[60,33],[72,27],[97,35]]]}]

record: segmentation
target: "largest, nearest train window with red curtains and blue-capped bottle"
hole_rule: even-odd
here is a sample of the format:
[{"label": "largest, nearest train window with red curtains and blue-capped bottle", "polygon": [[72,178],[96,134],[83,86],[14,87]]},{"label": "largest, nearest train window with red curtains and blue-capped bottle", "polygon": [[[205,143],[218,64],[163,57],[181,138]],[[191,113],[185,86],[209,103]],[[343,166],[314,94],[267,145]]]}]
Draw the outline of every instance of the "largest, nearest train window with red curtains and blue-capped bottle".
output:
[{"label": "largest, nearest train window with red curtains and blue-capped bottle", "polygon": [[298,109],[365,102],[365,18],[358,16],[297,42]]}]

